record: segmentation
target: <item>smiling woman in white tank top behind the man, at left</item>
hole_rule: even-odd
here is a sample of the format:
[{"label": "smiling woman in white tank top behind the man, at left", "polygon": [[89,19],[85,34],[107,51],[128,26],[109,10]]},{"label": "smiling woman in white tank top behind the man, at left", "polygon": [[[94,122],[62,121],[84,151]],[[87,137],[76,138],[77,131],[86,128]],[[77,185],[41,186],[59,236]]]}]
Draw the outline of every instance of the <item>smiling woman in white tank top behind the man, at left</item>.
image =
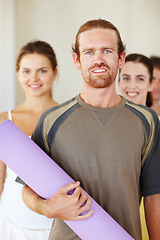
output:
[{"label": "smiling woman in white tank top behind the man, at left", "polygon": [[[16,71],[25,99],[15,109],[1,113],[0,122],[10,119],[30,137],[40,115],[58,105],[51,90],[57,77],[54,50],[43,41],[27,43],[19,52]],[[47,240],[53,219],[27,208],[22,199],[23,185],[15,182],[16,174],[2,161],[0,173],[0,239]]]}]

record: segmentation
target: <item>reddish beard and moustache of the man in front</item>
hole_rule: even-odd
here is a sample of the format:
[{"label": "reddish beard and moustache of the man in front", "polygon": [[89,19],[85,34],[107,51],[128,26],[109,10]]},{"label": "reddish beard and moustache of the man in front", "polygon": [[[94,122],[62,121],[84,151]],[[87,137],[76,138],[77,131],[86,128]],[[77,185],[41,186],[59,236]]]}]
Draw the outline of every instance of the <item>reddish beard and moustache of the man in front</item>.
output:
[{"label": "reddish beard and moustache of the man in front", "polygon": [[[104,75],[93,75],[92,70],[96,67],[104,67],[107,71]],[[84,81],[93,88],[109,88],[113,82],[116,79],[117,76],[117,70],[114,70],[113,72],[110,71],[110,67],[105,64],[95,64],[94,66],[90,67],[88,69],[88,76],[84,76],[82,72],[82,76]]]}]

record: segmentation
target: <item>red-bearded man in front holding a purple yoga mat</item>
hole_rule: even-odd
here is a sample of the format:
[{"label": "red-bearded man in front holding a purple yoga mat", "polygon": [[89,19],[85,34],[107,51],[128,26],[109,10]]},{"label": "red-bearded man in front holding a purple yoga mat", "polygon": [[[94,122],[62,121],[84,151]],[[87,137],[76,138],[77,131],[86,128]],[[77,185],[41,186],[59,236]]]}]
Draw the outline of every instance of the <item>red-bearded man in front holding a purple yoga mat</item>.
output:
[{"label": "red-bearded man in front holding a purple yoga mat", "polygon": [[[92,217],[92,210],[81,215],[90,209],[90,199],[81,184],[134,239],[140,240],[139,204],[143,195],[150,238],[158,239],[158,117],[115,91],[125,47],[112,23],[102,19],[86,22],[72,49],[74,64],[82,73],[82,92],[45,112],[32,138],[77,182],[47,200],[25,186],[24,201],[32,210],[56,218],[50,240],[78,240],[62,220]],[[69,196],[71,189],[75,192]]]}]

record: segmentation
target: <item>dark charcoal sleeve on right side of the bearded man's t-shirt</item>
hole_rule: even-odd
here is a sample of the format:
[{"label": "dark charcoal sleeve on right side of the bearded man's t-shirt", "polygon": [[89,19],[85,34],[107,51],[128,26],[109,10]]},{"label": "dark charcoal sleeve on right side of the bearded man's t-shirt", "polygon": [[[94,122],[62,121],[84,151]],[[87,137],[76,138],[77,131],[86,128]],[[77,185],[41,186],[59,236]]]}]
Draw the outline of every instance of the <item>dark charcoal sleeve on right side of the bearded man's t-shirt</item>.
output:
[{"label": "dark charcoal sleeve on right side of the bearded man's t-shirt", "polygon": [[155,134],[151,151],[142,166],[140,186],[142,196],[160,193],[160,122],[155,119]]}]

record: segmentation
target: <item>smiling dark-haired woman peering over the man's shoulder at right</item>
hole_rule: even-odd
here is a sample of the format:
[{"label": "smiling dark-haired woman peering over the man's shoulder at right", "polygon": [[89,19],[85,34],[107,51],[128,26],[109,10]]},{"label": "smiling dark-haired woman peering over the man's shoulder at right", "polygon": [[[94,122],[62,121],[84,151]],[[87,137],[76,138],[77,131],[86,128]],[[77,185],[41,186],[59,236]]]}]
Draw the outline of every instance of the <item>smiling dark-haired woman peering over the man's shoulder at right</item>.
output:
[{"label": "smiling dark-haired woman peering over the man's shoulder at right", "polygon": [[[127,55],[118,81],[121,95],[136,104],[150,107],[148,93],[152,90],[152,79],[153,65],[148,57],[137,53]],[[142,239],[149,240],[143,201],[142,198],[140,205]]]}]

